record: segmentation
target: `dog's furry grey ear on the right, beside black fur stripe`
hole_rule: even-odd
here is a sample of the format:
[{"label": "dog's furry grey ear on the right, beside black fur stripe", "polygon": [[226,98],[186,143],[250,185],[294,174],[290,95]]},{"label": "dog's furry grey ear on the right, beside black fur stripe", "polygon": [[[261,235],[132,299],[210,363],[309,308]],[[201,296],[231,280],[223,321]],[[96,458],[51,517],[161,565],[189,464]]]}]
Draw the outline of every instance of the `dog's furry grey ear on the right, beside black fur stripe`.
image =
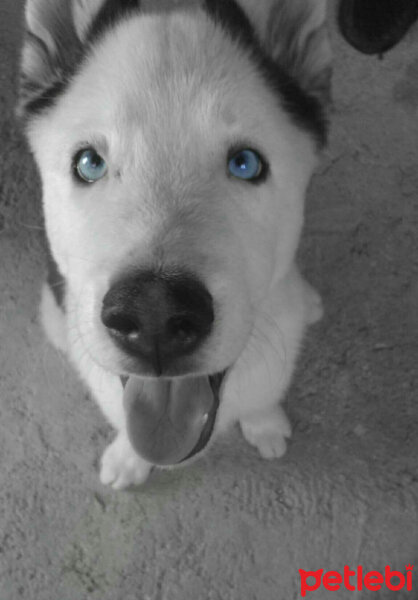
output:
[{"label": "dog's furry grey ear on the right, beside black fur stripe", "polygon": [[262,32],[271,58],[325,105],[332,58],[326,18],[327,0],[274,0]]}]

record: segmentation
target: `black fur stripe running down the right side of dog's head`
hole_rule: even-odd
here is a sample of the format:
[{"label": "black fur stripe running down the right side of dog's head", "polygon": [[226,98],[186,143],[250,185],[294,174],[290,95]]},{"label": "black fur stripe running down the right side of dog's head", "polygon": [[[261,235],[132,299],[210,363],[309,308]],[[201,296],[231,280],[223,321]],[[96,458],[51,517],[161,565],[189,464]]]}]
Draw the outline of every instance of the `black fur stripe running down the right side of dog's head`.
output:
[{"label": "black fur stripe running down the right side of dog's head", "polygon": [[326,143],[327,120],[320,101],[305,92],[297,81],[263,50],[245,12],[235,0],[205,0],[204,7],[216,23],[251,55],[270,88],[279,96],[293,121]]}]

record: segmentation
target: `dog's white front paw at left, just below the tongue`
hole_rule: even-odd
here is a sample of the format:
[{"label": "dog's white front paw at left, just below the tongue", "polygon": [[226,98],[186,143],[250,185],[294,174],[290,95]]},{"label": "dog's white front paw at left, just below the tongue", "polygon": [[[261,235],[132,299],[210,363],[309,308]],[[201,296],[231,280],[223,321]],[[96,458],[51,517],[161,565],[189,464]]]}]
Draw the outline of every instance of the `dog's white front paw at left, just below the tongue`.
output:
[{"label": "dog's white front paw at left, just below the tongue", "polygon": [[147,479],[152,465],[143,460],[132,448],[126,434],[119,433],[103,453],[100,481],[115,490],[140,485]]}]

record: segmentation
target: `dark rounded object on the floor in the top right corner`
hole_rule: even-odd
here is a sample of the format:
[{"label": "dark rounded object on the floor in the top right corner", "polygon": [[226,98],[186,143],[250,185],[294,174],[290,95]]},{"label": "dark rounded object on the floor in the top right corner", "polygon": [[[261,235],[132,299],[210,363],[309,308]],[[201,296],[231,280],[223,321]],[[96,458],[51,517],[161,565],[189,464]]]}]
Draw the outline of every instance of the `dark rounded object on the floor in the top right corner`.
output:
[{"label": "dark rounded object on the floor in the top right corner", "polygon": [[364,54],[395,46],[418,18],[418,0],[341,0],[338,25],[347,42]]}]

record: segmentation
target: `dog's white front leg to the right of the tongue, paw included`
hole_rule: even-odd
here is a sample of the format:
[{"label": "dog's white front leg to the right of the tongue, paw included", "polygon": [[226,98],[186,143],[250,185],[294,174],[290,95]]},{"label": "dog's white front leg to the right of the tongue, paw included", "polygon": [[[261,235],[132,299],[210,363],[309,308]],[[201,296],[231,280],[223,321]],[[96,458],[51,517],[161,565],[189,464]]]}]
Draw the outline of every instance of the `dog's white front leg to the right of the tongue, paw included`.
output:
[{"label": "dog's white front leg to the right of the tongue, paw included", "polygon": [[309,323],[322,316],[319,295],[294,267],[258,311],[250,340],[227,376],[219,428],[239,421],[264,458],[282,456],[291,435],[280,401]]}]

